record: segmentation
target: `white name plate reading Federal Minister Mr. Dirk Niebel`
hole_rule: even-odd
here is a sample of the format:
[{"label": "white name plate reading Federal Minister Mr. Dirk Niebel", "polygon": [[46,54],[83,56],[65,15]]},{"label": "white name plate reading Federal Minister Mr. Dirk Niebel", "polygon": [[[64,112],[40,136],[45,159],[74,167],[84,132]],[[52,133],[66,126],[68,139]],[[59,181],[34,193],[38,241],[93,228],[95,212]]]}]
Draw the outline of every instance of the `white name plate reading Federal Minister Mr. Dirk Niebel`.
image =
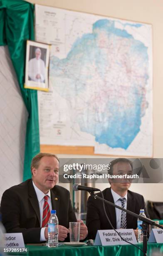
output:
[{"label": "white name plate reading Federal Minister Mr. Dirk Niebel", "polygon": [[[136,244],[136,236],[133,229],[116,229],[118,233],[121,235],[125,241]],[[122,245],[126,244],[125,241],[121,239],[121,237],[114,231],[114,229],[110,230],[98,230],[96,234],[96,238],[94,241],[94,245]]]}]

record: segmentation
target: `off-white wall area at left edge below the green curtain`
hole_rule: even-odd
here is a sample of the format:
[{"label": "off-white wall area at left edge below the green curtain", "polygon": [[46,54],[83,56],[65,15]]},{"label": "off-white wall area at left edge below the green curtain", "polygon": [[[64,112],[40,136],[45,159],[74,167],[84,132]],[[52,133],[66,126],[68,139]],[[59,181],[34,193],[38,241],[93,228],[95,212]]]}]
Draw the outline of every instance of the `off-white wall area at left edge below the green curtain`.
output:
[{"label": "off-white wall area at left edge below the green curtain", "polygon": [[0,46],[0,199],[22,182],[27,110],[7,46]]}]

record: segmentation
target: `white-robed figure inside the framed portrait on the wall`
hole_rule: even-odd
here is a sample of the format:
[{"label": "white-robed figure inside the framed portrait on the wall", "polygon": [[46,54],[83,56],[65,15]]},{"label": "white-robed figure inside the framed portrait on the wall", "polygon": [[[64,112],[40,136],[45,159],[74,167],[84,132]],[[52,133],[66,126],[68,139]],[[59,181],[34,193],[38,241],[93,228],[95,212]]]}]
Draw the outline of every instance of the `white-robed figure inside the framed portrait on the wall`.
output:
[{"label": "white-robed figure inside the framed portrait on the wall", "polygon": [[28,79],[35,82],[45,82],[45,63],[41,59],[41,49],[36,48],[35,58],[28,63]]}]

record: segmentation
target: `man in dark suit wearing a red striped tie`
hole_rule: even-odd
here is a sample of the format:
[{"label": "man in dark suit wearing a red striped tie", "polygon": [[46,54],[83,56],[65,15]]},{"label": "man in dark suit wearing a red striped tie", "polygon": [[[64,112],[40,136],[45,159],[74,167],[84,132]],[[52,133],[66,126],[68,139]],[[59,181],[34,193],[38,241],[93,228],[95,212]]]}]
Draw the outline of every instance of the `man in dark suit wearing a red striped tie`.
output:
[{"label": "man in dark suit wearing a red striped tie", "polygon": [[[40,153],[32,159],[32,179],[7,189],[0,205],[2,223],[7,233],[22,233],[25,243],[48,239],[50,210],[56,210],[59,221],[58,239],[66,241],[69,222],[76,222],[69,191],[56,185],[59,159],[53,154]],[[87,235],[81,222],[80,240]]]}]

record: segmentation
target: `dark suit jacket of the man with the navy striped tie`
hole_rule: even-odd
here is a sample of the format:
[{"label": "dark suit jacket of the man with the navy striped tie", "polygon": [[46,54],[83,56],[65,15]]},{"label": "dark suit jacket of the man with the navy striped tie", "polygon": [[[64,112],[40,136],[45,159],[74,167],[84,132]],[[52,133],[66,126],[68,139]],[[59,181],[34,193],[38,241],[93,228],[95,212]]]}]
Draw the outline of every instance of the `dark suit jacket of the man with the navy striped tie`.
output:
[{"label": "dark suit jacket of the man with the navy striped tie", "polygon": [[[113,202],[114,199],[111,194],[111,188],[106,188],[102,191],[104,195],[104,199]],[[101,197],[101,193],[97,193],[99,197]],[[116,210],[113,206],[106,204],[106,213],[114,226],[116,228]],[[146,212],[146,205],[144,202],[144,198],[142,195],[131,192],[128,190],[127,192],[127,210],[131,212],[135,212],[139,215],[140,209],[145,210],[146,217],[148,217],[148,213]],[[133,217],[129,214],[126,214],[126,225],[127,228],[137,228],[137,218]],[[95,239],[97,230],[104,229],[112,229],[108,220],[106,219],[103,202],[99,199],[94,199],[94,197],[90,196],[87,201],[87,214],[86,214],[86,226],[88,228],[88,239]]]}]

